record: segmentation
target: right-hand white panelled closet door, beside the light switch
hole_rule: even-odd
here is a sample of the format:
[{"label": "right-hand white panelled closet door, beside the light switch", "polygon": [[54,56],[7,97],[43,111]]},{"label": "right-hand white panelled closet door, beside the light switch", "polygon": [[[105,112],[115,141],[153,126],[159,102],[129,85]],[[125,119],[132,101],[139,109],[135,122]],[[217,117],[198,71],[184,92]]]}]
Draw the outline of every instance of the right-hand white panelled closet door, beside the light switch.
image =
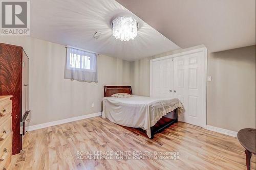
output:
[{"label": "right-hand white panelled closet door, beside the light switch", "polygon": [[204,52],[174,58],[174,97],[185,111],[179,121],[203,126],[204,118]]}]

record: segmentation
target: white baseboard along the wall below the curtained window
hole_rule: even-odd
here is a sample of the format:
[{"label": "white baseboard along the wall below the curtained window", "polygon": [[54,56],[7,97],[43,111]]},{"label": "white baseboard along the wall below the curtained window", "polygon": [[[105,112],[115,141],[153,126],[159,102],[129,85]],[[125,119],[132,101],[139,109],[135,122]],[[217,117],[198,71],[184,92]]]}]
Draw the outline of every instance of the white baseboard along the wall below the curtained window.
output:
[{"label": "white baseboard along the wall below the curtained window", "polygon": [[45,124],[33,125],[33,126],[28,127],[28,131],[33,131],[33,130],[42,129],[42,128],[48,128],[48,127],[55,126],[55,125],[66,124],[66,123],[69,123],[69,122],[74,122],[74,121],[77,121],[77,120],[96,117],[96,116],[100,116],[100,115],[101,115],[101,112],[98,112],[98,113],[92,113],[92,114],[87,114],[87,115],[82,115],[82,116],[77,116],[77,117],[71,117],[71,118],[56,120],[54,122],[48,122],[48,123],[45,123]]}]

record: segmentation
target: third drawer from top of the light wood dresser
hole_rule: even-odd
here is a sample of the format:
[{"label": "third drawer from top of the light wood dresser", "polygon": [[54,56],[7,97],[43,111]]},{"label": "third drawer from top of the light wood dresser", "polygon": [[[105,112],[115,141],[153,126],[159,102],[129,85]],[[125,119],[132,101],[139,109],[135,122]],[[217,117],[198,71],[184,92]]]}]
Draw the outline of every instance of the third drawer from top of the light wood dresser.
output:
[{"label": "third drawer from top of the light wood dresser", "polygon": [[12,154],[12,132],[7,136],[4,143],[0,145],[0,170],[7,169],[11,162]]}]

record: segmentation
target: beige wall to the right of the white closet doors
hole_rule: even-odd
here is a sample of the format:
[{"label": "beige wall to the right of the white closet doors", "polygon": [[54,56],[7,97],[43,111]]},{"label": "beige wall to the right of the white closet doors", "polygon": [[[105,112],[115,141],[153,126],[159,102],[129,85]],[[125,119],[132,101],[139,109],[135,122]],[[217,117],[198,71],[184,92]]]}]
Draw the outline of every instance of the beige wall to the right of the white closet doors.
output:
[{"label": "beige wall to the right of the white closet doors", "polygon": [[255,45],[208,56],[207,124],[255,128]]}]

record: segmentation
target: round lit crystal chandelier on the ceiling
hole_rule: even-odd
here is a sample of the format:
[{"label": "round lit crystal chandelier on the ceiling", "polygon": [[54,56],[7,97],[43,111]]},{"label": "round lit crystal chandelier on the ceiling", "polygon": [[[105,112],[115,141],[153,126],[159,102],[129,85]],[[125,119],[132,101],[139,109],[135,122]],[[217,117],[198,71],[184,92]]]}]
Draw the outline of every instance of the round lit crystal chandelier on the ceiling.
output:
[{"label": "round lit crystal chandelier on the ceiling", "polygon": [[138,22],[129,16],[121,16],[111,23],[113,35],[121,41],[129,41],[137,36]]}]

